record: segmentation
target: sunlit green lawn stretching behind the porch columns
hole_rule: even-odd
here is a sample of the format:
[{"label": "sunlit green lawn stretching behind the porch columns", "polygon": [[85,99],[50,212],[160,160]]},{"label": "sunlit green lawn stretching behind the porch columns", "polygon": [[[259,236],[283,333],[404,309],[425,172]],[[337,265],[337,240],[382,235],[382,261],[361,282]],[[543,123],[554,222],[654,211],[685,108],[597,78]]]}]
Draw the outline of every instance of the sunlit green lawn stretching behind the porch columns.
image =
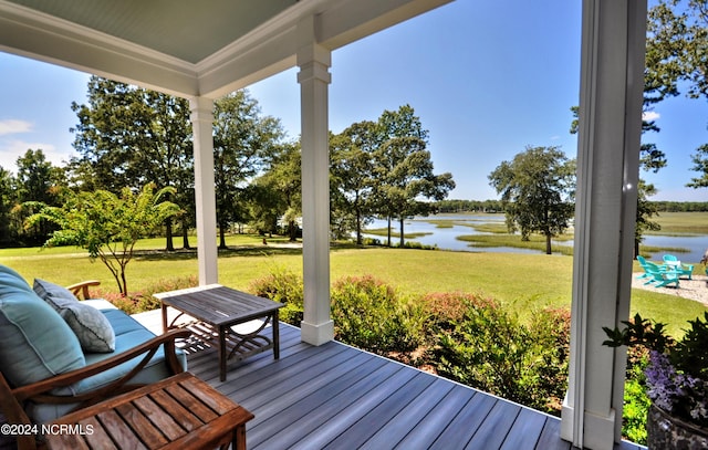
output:
[{"label": "sunlit green lawn stretching behind the porch columns", "polygon": [[[277,268],[302,271],[299,249],[269,245],[259,237],[232,237],[229,245],[246,245],[220,252],[219,282],[237,289],[249,284]],[[196,242],[194,242],[196,244]],[[197,274],[196,252],[159,251],[164,240],[140,241],[143,251],[128,264],[128,290],[147,290],[158,281]],[[91,262],[74,248],[0,250],[0,263],[18,270],[28,281],[41,278],[61,284],[86,279],[102,282],[102,289],[117,292],[108,270],[98,261]],[[635,268],[638,271],[638,266]],[[331,279],[373,274],[402,293],[473,292],[491,296],[521,316],[544,306],[570,306],[572,258],[565,255],[521,253],[470,253],[429,250],[334,247],[331,252]],[[702,314],[697,302],[671,295],[633,290],[632,314],[641,312],[669,324],[671,334],[679,333],[686,321]]]}]

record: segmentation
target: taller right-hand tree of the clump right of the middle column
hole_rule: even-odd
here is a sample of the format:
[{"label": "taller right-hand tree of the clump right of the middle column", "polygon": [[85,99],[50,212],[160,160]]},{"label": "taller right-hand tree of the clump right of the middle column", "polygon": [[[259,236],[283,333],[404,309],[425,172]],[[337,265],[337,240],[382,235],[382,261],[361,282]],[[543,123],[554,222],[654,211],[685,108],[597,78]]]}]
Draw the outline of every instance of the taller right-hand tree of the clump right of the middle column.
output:
[{"label": "taller right-hand tree of the clump right of the middle column", "polygon": [[389,244],[391,221],[398,220],[403,247],[405,219],[430,213],[433,206],[423,199],[442,200],[455,188],[455,181],[449,172],[434,174],[430,151],[426,149],[428,130],[410,105],[384,111],[377,134],[374,201],[388,220]]}]

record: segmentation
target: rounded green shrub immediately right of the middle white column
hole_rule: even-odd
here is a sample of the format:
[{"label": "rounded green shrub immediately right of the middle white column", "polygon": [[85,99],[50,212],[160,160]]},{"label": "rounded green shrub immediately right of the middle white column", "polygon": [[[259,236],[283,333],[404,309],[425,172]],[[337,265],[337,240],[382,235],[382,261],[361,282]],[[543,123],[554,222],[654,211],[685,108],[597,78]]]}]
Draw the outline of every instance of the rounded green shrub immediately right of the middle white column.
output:
[{"label": "rounded green shrub immediately right of the middle white column", "polygon": [[423,310],[373,276],[335,282],[332,317],[337,339],[379,355],[412,352],[423,342]]}]

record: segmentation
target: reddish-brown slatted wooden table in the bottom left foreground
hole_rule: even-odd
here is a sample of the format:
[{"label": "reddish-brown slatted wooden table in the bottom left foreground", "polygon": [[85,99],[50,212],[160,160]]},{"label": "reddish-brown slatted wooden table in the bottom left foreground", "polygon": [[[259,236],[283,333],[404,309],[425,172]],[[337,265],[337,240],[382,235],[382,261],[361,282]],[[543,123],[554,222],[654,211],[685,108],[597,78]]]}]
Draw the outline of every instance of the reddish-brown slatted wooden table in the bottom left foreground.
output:
[{"label": "reddish-brown slatted wooden table in the bottom left foreground", "polygon": [[60,417],[46,443],[58,449],[246,450],[253,415],[190,373],[181,373]]}]

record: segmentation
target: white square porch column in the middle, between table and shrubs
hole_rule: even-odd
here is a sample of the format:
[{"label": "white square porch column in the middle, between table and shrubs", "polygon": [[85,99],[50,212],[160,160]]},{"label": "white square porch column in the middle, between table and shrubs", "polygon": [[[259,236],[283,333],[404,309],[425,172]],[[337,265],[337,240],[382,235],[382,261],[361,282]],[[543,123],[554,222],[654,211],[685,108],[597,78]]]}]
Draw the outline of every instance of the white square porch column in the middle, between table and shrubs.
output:
[{"label": "white square porch column in the middle, between table and shrubs", "polygon": [[299,24],[298,82],[302,121],[302,255],[304,318],[302,341],[334,338],[330,318],[330,154],[327,88],[331,52],[314,38],[314,19]]}]

